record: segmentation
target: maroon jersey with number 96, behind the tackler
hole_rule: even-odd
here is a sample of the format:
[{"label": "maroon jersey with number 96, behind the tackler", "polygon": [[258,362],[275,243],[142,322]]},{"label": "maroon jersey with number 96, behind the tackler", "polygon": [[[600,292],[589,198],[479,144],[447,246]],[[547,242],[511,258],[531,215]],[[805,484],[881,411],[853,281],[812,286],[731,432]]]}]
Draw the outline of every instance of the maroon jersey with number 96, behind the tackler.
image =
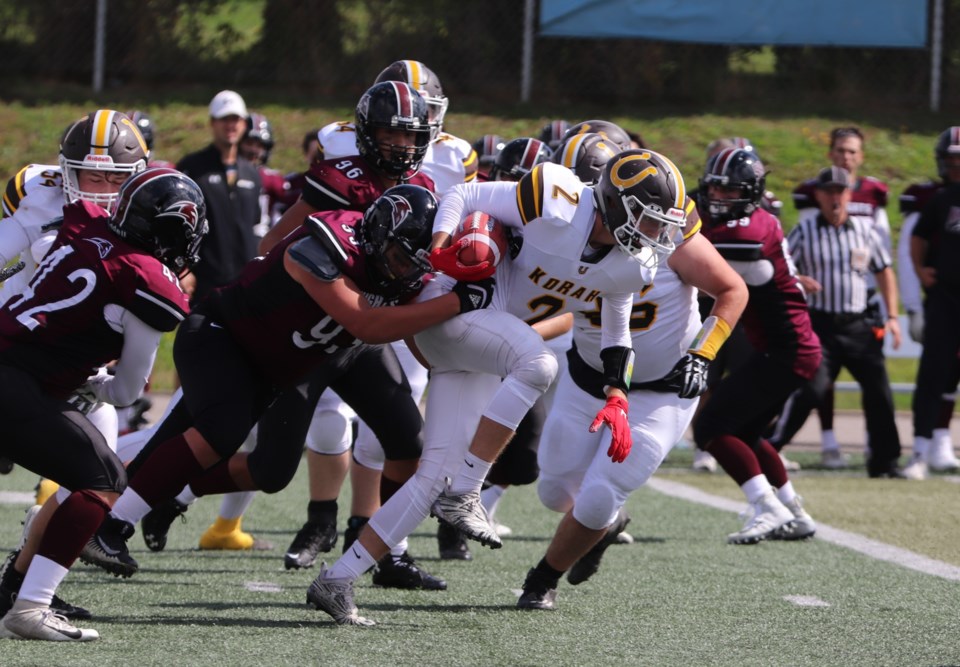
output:
[{"label": "maroon jersey with number 96, behind the tackler", "polygon": [[[422,172],[404,180],[435,191],[433,179]],[[303,201],[318,211],[365,211],[386,186],[380,175],[360,155],[314,162],[304,174]]]}]

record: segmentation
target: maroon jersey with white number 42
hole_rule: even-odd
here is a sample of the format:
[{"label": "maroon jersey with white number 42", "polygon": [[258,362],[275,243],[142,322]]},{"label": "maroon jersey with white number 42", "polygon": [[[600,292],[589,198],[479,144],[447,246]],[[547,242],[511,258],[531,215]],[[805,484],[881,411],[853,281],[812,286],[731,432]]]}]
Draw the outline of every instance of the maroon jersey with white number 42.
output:
[{"label": "maroon jersey with white number 42", "polygon": [[88,202],[64,206],[57,240],[30,284],[0,308],[0,363],[58,398],[120,356],[123,334],[111,326],[119,309],[158,331],[172,331],[187,313],[176,276],[113,234],[107,217]]}]

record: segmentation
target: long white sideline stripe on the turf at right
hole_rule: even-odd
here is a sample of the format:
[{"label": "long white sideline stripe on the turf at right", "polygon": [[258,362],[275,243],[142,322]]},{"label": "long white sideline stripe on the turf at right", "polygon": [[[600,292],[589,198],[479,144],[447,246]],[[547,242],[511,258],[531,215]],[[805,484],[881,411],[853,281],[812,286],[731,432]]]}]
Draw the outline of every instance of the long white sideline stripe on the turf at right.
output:
[{"label": "long white sideline stripe on the turf at right", "polygon": [[[710,493],[701,491],[692,486],[672,482],[665,479],[653,478],[647,485],[665,495],[673,498],[681,498],[691,502],[707,505],[716,509],[727,510],[730,512],[740,512],[744,508],[743,501],[721,498]],[[895,547],[892,544],[871,540],[857,533],[851,533],[839,528],[833,528],[826,524],[817,523],[817,538],[831,544],[836,544],[847,549],[859,551],[865,556],[875,558],[876,560],[886,561],[906,567],[917,572],[923,572],[934,577],[950,579],[951,581],[960,581],[960,567],[944,563],[943,561],[914,553],[907,549]]]}]

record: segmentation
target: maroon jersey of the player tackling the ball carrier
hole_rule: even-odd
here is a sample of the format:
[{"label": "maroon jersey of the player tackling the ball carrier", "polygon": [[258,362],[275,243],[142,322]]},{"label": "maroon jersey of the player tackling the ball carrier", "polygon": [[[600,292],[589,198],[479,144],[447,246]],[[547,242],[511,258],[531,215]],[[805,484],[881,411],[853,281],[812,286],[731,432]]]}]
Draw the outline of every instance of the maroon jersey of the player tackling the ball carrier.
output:
[{"label": "maroon jersey of the player tackling the ball carrier", "polygon": [[373,277],[375,269],[357,245],[354,226],[362,218],[356,211],[310,216],[269,253],[247,264],[234,283],[197,307],[230,332],[274,386],[297,384],[329,355],[360,343],[286,272],[283,256],[288,248],[319,258],[330,280],[352,280],[371,306],[400,302],[399,294],[383,293]]}]

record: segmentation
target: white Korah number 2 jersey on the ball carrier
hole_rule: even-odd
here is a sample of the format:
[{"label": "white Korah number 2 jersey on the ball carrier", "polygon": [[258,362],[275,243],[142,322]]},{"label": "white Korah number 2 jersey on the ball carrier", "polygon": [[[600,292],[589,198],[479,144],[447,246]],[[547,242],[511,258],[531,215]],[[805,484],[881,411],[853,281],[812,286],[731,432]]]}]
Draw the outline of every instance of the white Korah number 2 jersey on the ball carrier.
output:
[{"label": "white Korah number 2 jersey on the ball carrier", "polygon": [[484,211],[523,236],[519,255],[497,267],[492,308],[533,324],[592,311],[602,296],[602,346],[630,345],[633,293],[653,283],[655,270],[616,247],[597,252],[588,247],[596,205],[590,188],[572,171],[545,163],[519,183],[458,186],[441,201],[434,232],[452,233],[473,211]]}]

